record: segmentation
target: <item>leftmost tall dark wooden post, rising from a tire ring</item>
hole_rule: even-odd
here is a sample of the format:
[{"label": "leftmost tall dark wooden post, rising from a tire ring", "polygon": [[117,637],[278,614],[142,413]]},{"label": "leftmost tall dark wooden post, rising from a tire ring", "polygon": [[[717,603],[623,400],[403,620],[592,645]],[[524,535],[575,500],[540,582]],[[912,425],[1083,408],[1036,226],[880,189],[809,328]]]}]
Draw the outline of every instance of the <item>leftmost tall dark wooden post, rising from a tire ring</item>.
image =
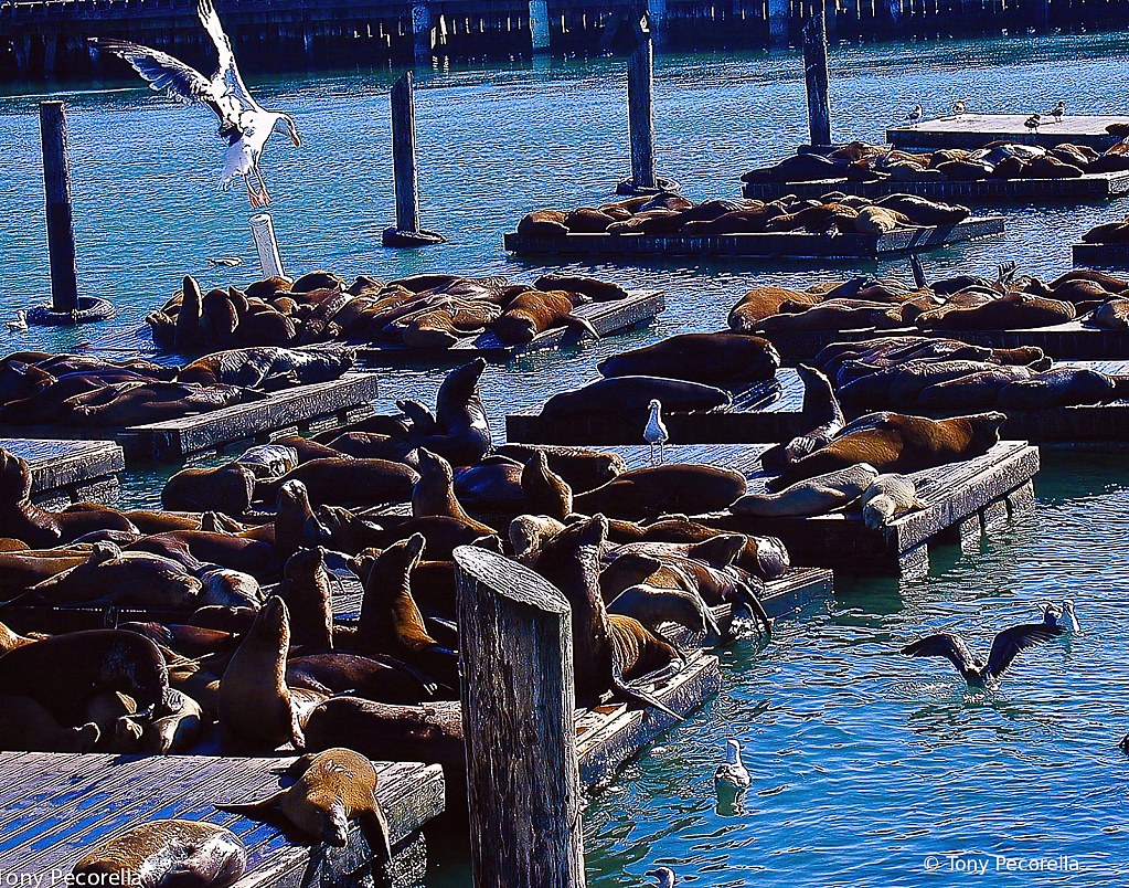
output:
[{"label": "leftmost tall dark wooden post, rising from a tire ring", "polygon": [[43,185],[47,197],[47,253],[51,260],[51,305],[55,312],[78,311],[75,221],[67,158],[67,116],[62,102],[40,103],[43,140]]}]

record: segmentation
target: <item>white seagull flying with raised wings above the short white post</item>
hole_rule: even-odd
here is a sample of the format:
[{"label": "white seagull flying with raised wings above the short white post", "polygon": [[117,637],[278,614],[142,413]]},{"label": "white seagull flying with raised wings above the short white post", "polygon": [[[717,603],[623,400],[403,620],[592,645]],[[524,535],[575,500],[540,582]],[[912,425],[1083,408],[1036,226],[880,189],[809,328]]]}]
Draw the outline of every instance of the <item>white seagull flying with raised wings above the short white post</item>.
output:
[{"label": "white seagull flying with raised wings above the short white post", "polygon": [[177,102],[202,104],[219,117],[219,136],[228,142],[224,151],[224,168],[219,186],[226,191],[236,176],[242,176],[247,185],[247,199],[252,207],[265,207],[271,202],[263,182],[259,159],[272,132],[290,137],[295,147],[301,147],[301,139],[294,117],[275,111],[266,111],[247,90],[239,68],[235,63],[231,42],[224,33],[212,0],[198,0],[196,16],[203,25],[219,55],[219,64],[211,79],[204,77],[180,59],[174,59],[160,50],[151,50],[129,41],[108,37],[91,37],[90,42],[100,51],[111,52],[130,64],[149,81],[149,88],[166,90]]}]

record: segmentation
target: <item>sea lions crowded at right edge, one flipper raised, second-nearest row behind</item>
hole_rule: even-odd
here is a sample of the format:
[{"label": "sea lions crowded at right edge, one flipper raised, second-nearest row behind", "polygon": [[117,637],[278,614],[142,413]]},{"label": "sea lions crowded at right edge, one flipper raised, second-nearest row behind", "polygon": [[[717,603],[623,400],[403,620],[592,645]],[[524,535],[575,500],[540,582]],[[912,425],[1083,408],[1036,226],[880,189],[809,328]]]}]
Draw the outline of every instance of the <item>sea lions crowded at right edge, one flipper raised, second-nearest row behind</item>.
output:
[{"label": "sea lions crowded at right edge, one flipper raised, second-nearest row behind", "polygon": [[898,278],[857,277],[806,290],[758,287],[729,312],[736,332],[809,330],[1022,330],[1078,320],[1124,329],[1129,284],[1111,275],[1078,269],[1050,284],[1017,276],[1014,263],[996,279],[973,275],[910,284]]}]

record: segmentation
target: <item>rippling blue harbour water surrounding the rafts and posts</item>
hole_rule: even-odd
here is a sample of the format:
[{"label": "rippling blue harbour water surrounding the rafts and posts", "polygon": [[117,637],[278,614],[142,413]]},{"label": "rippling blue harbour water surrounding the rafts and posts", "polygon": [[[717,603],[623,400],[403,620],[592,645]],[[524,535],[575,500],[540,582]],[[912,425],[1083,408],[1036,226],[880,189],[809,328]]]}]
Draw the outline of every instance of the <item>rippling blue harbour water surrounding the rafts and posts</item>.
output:
[{"label": "rippling blue harbour water surrounding the rafts and posts", "polygon": [[[914,103],[939,114],[955,98],[973,112],[1045,112],[1059,98],[1071,113],[1120,111],[1126,37],[833,46],[834,134],[878,140]],[[502,233],[532,209],[603,200],[628,174],[622,61],[437,66],[417,75],[420,191],[425,227],[450,243],[384,251],[392,79],[350,71],[256,84],[260,101],[290,111],[305,139],[294,149],[275,137],[263,163],[288,272],[532,279],[545,267],[508,259]],[[40,97],[0,97],[3,320],[47,288]],[[120,315],[78,331],[0,328],[5,352],[129,346],[183,275],[205,286],[253,279],[250,211],[237,191],[213,190],[220,143],[207,113],[133,81],[64,98],[80,289],[112,298]],[[659,56],[655,113],[659,171],[692,198],[736,197],[742,172],[806,138],[799,59]],[[1015,260],[1021,271],[1052,277],[1069,268],[1071,243],[1126,206],[1005,211],[1006,236],[929,253],[927,275],[990,273]],[[209,268],[208,258],[227,255],[247,265]],[[858,270],[684,260],[568,268],[662,288],[668,308],[645,330],[490,368],[484,394],[496,434],[508,409],[594,376],[601,357],[719,327],[751,286],[806,286]],[[905,263],[883,268],[909,276]],[[427,399],[439,378],[397,374],[390,388]],[[157,502],[159,481],[133,475],[125,496]],[[640,885],[656,862],[701,886],[1129,881],[1129,759],[1115,748],[1129,731],[1129,468],[1121,453],[1048,452],[1036,493],[1031,517],[978,552],[935,558],[927,578],[840,577],[833,599],[782,620],[764,650],[725,651],[724,690],[593,798],[590,883]],[[1023,654],[995,694],[969,693],[944,662],[898,654],[939,629],[986,652],[997,629],[1034,618],[1042,598],[1064,597],[1077,602],[1084,634]],[[725,818],[712,808],[712,771],[730,737],[744,746],[753,786],[746,812]],[[431,888],[467,883],[458,843],[434,845],[432,856]]]}]

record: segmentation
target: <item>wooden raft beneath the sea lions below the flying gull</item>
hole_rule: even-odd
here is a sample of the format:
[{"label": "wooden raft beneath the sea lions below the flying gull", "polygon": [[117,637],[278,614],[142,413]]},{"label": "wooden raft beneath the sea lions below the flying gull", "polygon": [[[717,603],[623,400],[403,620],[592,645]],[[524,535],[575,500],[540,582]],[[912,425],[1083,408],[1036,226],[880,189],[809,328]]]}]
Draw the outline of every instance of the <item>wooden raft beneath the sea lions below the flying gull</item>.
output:
[{"label": "wooden raft beneath the sea lions below the flying gull", "polygon": [[[590,302],[577,306],[572,312],[586,319],[601,337],[619,333],[638,324],[648,323],[655,315],[666,310],[666,299],[658,290],[637,290],[625,299]],[[580,341],[579,331],[571,327],[553,327],[524,345],[502,342],[492,331],[456,342],[450,348],[408,348],[406,346],[360,345],[357,357],[373,367],[437,366],[464,364],[475,358],[485,358],[495,364],[506,362],[531,351],[560,348]]]}]

